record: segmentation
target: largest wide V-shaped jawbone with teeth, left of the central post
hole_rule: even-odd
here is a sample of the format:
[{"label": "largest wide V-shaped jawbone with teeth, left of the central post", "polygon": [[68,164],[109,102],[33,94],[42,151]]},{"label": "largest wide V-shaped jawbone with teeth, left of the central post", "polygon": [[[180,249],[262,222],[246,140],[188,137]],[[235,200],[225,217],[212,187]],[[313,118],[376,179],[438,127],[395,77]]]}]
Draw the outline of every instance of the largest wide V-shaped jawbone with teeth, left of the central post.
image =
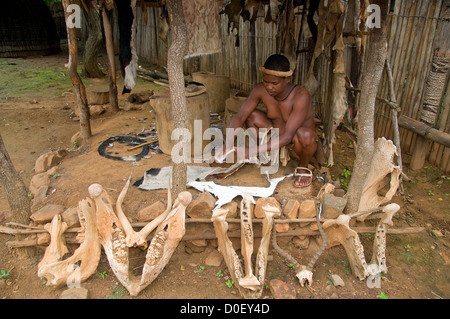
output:
[{"label": "largest wide V-shaped jawbone with teeth, left of the central post", "polygon": [[[170,189],[168,190],[170,193]],[[155,231],[146,255],[141,277],[129,273],[129,247],[119,218],[114,213],[112,202],[99,184],[89,187],[89,194],[97,207],[97,225],[100,242],[109,264],[119,282],[131,296],[137,296],[163,270],[185,233],[185,211],[192,200],[189,192],[178,195],[171,212]],[[126,224],[126,223],[125,223]]]}]

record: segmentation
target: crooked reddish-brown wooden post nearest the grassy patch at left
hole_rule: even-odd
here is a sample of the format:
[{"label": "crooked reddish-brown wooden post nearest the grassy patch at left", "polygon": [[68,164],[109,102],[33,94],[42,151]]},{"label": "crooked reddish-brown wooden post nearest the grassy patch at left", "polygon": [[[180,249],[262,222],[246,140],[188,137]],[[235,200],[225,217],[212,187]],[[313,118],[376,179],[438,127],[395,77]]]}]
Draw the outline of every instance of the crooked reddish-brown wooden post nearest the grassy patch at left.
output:
[{"label": "crooked reddish-brown wooden post nearest the grassy patch at left", "polygon": [[[67,7],[70,5],[69,0],[62,0],[64,7],[64,16],[66,22],[69,19],[70,12],[67,12]],[[75,94],[78,101],[78,109],[80,115],[80,131],[81,136],[84,140],[89,139],[92,136],[91,123],[89,120],[89,106],[86,98],[86,88],[80,75],[77,71],[78,66],[78,49],[77,49],[77,32],[75,28],[66,28],[67,30],[67,41],[69,44],[69,62],[66,64],[67,73],[69,74],[70,80],[72,81],[73,88],[75,89]]]}]

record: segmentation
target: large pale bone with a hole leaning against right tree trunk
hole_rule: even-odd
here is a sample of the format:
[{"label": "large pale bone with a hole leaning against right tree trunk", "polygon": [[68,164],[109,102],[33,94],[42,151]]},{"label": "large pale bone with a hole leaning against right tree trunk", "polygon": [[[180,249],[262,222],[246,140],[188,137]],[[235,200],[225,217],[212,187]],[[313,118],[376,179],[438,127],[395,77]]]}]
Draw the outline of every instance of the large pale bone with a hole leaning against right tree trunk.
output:
[{"label": "large pale bone with a hole leaning against right tree trunk", "polygon": [[[375,143],[375,151],[367,174],[366,183],[361,194],[358,211],[364,211],[388,203],[397,192],[400,185],[401,169],[394,165],[394,156],[397,148],[390,140],[379,138]],[[379,196],[378,191],[387,184],[387,176],[390,175],[390,188],[386,195]],[[361,215],[358,221],[364,221],[367,216]]]}]

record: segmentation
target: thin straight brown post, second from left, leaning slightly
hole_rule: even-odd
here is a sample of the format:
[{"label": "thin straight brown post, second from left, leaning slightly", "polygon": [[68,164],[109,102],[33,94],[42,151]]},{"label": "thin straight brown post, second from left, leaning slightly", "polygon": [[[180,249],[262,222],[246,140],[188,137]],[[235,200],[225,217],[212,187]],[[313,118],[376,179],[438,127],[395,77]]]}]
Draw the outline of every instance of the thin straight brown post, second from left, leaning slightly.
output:
[{"label": "thin straight brown post, second from left, leaning slightly", "polygon": [[111,22],[105,6],[102,8],[103,29],[105,30],[106,53],[109,64],[109,105],[113,113],[119,112],[116,84],[116,63],[114,58],[114,44],[112,39]]}]

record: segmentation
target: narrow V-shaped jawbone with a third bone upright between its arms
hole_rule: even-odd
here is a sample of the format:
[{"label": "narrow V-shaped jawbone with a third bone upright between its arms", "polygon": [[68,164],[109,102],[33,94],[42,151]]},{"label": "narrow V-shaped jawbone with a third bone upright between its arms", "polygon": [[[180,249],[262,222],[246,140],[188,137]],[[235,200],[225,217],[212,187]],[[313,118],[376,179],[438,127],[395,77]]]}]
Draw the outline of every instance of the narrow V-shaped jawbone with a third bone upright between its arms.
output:
[{"label": "narrow V-shaped jawbone with a third bone upright between its arms", "polygon": [[[255,274],[253,275],[251,268],[251,252],[253,251],[253,229],[251,225],[251,208],[253,198],[247,196],[241,205],[241,209],[244,210],[244,221],[241,224],[242,231],[242,244],[241,250],[244,256],[246,276],[243,277],[243,269],[238,255],[233,249],[233,245],[228,238],[228,223],[226,222],[226,216],[228,209],[216,208],[213,210],[212,221],[214,224],[214,230],[216,232],[217,240],[219,243],[219,251],[224,256],[225,263],[230,271],[231,277],[235,282],[238,282],[237,286],[240,294],[244,298],[259,298],[261,297],[264,280],[267,267],[267,254],[269,252],[270,235],[273,227],[273,218],[279,216],[281,211],[271,205],[265,205],[263,207],[264,219],[262,229],[262,239],[256,255]],[[241,215],[242,216],[242,215]],[[249,217],[250,216],[250,217]],[[242,217],[241,217],[242,218]],[[251,243],[251,247],[250,247]]]}]

